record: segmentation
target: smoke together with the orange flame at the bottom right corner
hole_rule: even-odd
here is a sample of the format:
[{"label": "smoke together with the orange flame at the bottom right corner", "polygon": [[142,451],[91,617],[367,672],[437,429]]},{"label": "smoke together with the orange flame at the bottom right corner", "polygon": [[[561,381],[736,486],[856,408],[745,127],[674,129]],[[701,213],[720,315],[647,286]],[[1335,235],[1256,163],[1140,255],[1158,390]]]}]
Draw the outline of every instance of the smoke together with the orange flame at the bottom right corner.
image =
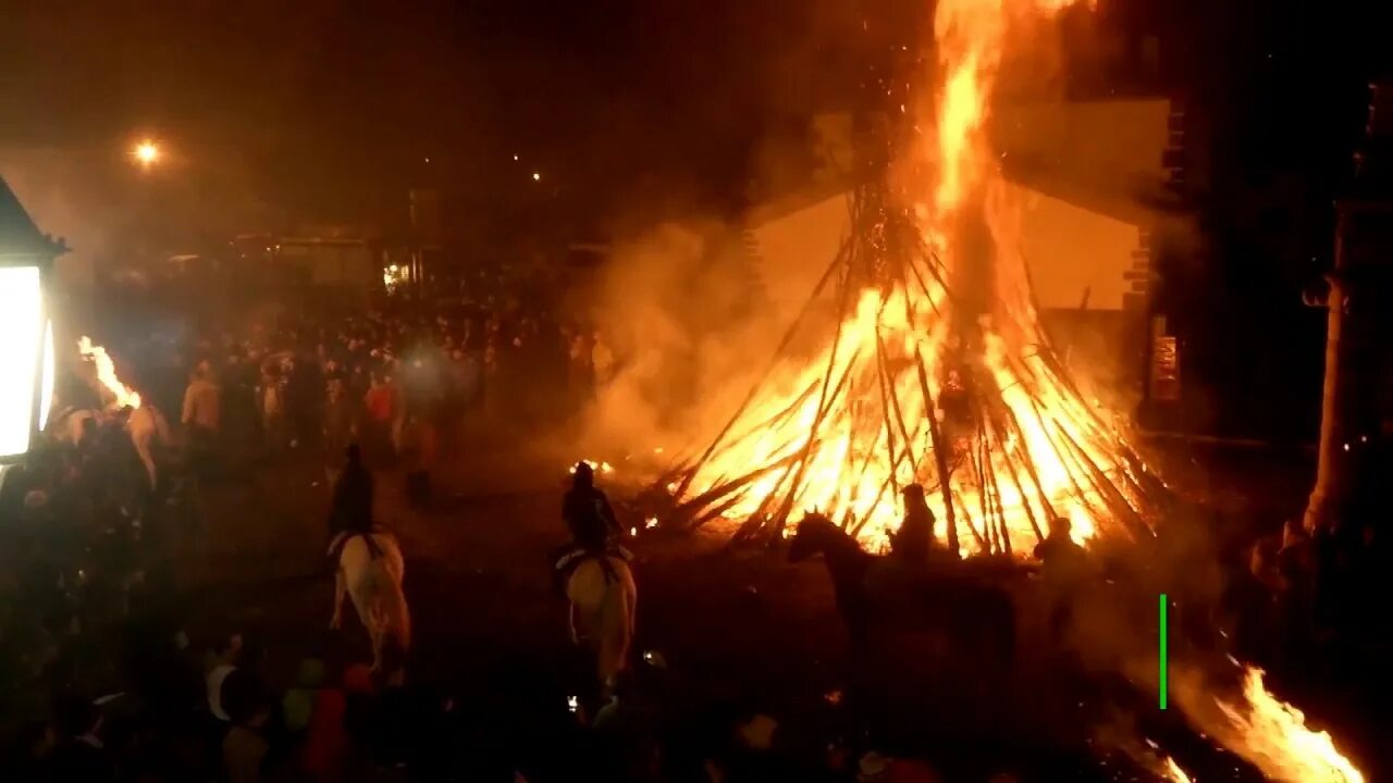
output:
[{"label": "smoke together with the orange flame at the bottom right corner", "polygon": [[[1184,514],[1155,542],[1107,553],[1116,574],[1109,587],[1074,596],[1068,644],[1091,677],[1124,683],[1110,692],[1095,745],[1167,780],[1185,780],[1180,769],[1229,769],[1237,759],[1270,780],[1362,780],[1337,737],[1308,726],[1300,709],[1265,687],[1261,670],[1234,658],[1222,612],[1229,575],[1211,535],[1217,525]],[[1170,609],[1166,713],[1146,704],[1162,687],[1159,595]]]}]

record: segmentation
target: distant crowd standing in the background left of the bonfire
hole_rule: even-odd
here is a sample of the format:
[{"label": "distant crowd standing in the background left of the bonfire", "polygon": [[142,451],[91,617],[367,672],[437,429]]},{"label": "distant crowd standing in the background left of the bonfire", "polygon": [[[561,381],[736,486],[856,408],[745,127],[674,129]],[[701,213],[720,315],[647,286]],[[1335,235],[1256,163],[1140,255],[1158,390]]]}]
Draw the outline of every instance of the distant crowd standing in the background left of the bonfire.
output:
[{"label": "distant crowd standing in the background left of the bonfire", "polygon": [[208,456],[245,464],[309,446],[332,475],[357,440],[373,467],[404,465],[422,502],[442,450],[476,435],[467,422],[560,424],[614,371],[595,330],[521,312],[286,320],[194,350],[182,422]]}]

